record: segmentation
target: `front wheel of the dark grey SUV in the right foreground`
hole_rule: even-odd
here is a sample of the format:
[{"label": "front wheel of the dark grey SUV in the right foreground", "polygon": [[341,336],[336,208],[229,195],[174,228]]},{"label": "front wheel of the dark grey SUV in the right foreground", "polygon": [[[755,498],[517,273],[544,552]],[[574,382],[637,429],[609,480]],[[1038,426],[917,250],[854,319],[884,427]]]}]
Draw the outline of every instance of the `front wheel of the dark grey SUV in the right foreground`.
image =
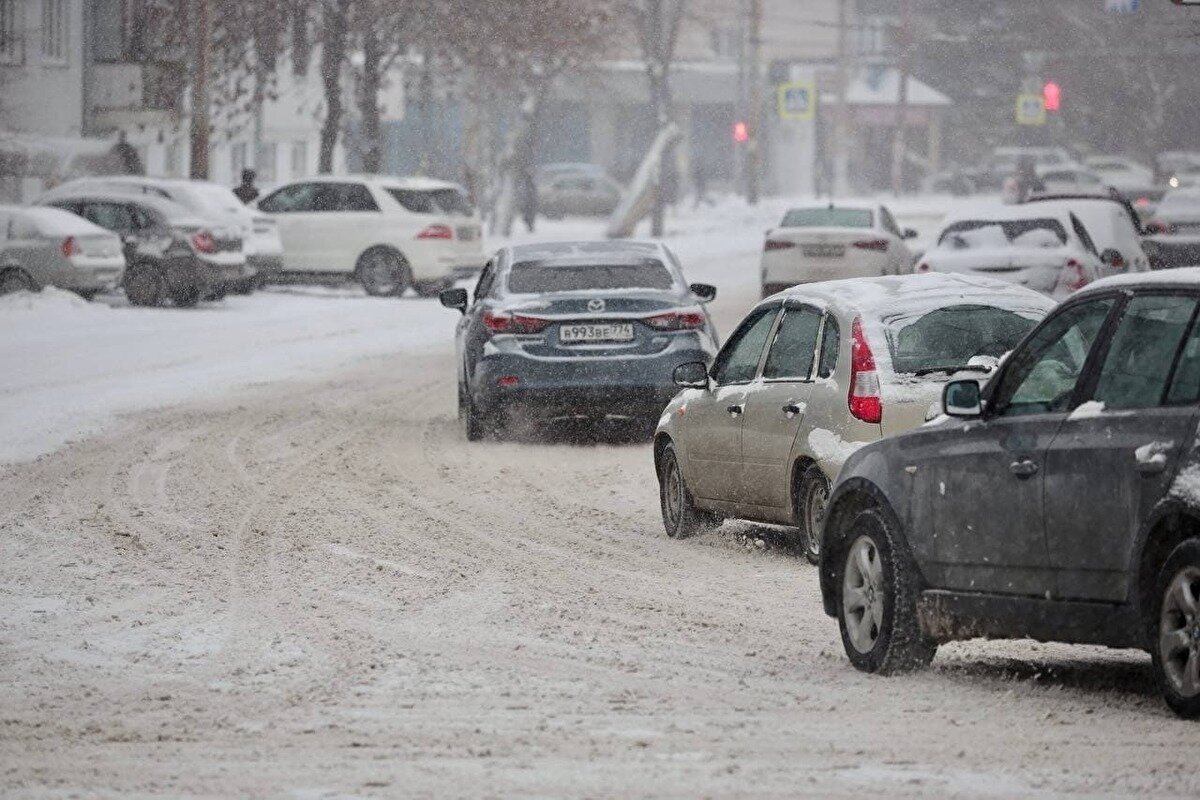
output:
[{"label": "front wheel of the dark grey SUV in the right foreground", "polygon": [[881,674],[926,666],[937,645],[920,631],[917,571],[890,521],[868,509],[846,541],[838,622],[851,663]]}]

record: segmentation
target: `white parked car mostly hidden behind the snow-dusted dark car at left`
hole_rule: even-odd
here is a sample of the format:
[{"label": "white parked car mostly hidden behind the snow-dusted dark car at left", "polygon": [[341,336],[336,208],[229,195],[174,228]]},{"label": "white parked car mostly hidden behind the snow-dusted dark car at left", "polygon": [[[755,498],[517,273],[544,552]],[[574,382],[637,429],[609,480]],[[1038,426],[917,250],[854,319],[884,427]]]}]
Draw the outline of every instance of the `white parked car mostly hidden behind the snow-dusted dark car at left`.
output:
[{"label": "white parked car mostly hidden behind the snow-dusted dark car at left", "polygon": [[220,184],[140,175],[83,178],[50,190],[42,197],[42,201],[96,190],[166,198],[208,221],[215,231],[235,233],[242,242],[245,265],[238,279],[218,290],[218,294],[223,290],[239,294],[251,291],[268,276],[277,275],[283,266],[283,242],[275,221],[244,205],[233,191]]}]

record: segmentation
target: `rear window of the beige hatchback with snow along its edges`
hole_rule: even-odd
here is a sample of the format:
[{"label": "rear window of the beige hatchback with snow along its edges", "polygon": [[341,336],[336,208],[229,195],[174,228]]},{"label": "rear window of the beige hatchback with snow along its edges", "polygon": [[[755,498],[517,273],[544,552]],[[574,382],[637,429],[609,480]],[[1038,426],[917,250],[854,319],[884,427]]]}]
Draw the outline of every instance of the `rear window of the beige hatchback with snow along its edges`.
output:
[{"label": "rear window of the beige hatchback with snow along its edges", "polygon": [[[1040,315],[1040,314],[1038,314]],[[1037,318],[984,305],[947,306],[913,319],[884,320],[896,373],[952,371],[973,356],[1001,357],[1025,338]]]}]

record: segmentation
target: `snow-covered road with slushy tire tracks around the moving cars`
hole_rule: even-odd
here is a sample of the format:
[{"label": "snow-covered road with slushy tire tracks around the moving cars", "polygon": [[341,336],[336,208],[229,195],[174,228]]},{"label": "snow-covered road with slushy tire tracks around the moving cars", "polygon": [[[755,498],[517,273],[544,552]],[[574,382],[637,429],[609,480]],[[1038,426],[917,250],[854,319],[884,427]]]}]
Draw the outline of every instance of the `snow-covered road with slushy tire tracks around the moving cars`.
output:
[{"label": "snow-covered road with slushy tire tracks around the moving cars", "polygon": [[[763,227],[680,245],[725,331]],[[449,336],[414,332],[449,312],[239,302],[278,315],[277,357],[228,345],[262,380],[197,379],[198,399],[97,413],[104,433],[0,467],[0,795],[1200,792],[1200,727],[1142,654],[967,644],[858,674],[769,531],[664,536],[648,445],[468,445]],[[358,332],[310,359],[289,313]],[[155,384],[192,380],[193,347]],[[54,379],[6,386],[6,410]]]}]

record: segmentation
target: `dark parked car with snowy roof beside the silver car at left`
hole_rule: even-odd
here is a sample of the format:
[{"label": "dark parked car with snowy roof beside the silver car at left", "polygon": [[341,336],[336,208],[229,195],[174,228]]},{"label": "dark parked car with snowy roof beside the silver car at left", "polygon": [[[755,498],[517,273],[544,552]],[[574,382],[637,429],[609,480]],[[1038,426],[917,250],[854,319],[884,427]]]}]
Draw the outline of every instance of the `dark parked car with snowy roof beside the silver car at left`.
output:
[{"label": "dark parked car with snowy roof beside the silver car at left", "polygon": [[44,203],[120,235],[125,294],[136,306],[194,306],[241,277],[241,239],[215,233],[181,205],[127,192],[86,191]]}]

